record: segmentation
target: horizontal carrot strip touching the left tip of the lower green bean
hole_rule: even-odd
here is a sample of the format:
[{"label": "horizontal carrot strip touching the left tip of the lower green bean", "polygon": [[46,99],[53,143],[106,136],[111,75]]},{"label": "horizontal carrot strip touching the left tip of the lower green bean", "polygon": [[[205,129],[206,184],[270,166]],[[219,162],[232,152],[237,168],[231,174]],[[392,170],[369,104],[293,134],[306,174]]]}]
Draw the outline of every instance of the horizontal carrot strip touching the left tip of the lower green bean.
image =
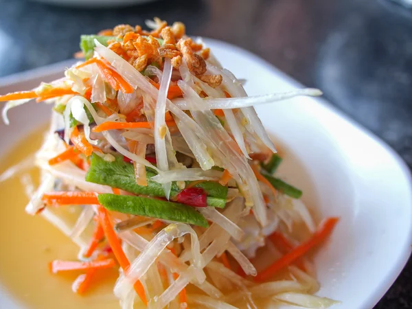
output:
[{"label": "horizontal carrot strip touching the left tip of the lower green bean", "polygon": [[46,205],[91,205],[98,204],[97,192],[51,192],[43,194]]}]

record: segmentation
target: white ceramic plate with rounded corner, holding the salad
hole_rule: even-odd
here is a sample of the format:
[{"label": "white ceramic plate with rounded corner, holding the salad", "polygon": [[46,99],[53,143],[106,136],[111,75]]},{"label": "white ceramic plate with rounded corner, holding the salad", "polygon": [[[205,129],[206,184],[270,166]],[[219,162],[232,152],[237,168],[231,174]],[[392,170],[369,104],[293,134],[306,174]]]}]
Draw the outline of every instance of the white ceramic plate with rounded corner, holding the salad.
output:
[{"label": "white ceramic plate with rounded corner, holding the salad", "polygon": [[[217,58],[249,95],[286,91],[301,84],[264,60],[233,45],[207,40]],[[30,89],[61,76],[68,63],[17,76],[0,93]],[[0,83],[4,80],[0,80]],[[30,130],[47,122],[49,107],[28,104],[0,125],[0,155]],[[319,295],[338,299],[336,308],[370,309],[399,275],[411,253],[412,194],[407,165],[386,144],[322,99],[296,98],[259,106],[267,130],[292,154],[283,173],[304,190],[304,201],[321,216],[340,216],[330,241],[315,256]],[[24,123],[25,126],[21,126]],[[6,293],[0,307],[12,307]]]}]

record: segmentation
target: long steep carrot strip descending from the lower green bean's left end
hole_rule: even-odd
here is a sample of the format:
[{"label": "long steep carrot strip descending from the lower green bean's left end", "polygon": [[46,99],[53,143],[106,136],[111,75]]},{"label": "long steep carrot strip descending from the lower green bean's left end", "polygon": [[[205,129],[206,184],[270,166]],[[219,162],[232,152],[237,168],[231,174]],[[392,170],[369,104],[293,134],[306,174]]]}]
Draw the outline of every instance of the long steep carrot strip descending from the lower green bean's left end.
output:
[{"label": "long steep carrot strip descending from the lower green bean's left end", "polygon": [[[108,216],[108,211],[101,205],[98,205],[98,216],[100,220],[100,224],[103,227],[104,235],[106,236],[106,240],[108,244],[110,244],[111,249],[116,257],[117,262],[119,262],[120,267],[122,267],[123,271],[126,272],[128,267],[130,266],[130,262],[126,258],[126,254],[122,249],[122,245],[119,242],[115,234],[115,230],[113,229],[112,222]],[[141,301],[144,302],[145,305],[148,304],[146,299],[146,295],[144,293],[144,287],[139,280],[134,284],[135,290],[137,295],[139,295]]]}]

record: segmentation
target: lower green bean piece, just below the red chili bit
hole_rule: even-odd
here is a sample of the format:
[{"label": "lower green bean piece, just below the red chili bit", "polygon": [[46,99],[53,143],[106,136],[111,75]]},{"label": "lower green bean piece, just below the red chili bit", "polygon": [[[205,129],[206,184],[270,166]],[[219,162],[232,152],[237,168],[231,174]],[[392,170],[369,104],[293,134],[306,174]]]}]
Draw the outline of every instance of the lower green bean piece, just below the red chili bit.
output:
[{"label": "lower green bean piece, just below the red chili bit", "polygon": [[98,199],[100,204],[111,211],[209,227],[205,217],[187,205],[141,196],[115,194],[99,194]]}]

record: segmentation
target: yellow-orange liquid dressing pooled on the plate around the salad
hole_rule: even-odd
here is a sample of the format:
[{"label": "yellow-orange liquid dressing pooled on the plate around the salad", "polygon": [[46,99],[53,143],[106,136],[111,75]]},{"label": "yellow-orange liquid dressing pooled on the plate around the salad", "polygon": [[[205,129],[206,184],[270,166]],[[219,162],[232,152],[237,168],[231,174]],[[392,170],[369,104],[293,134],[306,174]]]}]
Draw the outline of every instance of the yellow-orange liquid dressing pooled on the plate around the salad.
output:
[{"label": "yellow-orange liquid dressing pooled on the plate around the salad", "polygon": [[[34,154],[40,148],[45,129],[38,130],[27,139],[17,144],[0,163],[0,174],[10,166],[21,162]],[[307,205],[316,205],[317,196],[314,196],[314,187],[307,173],[299,161],[282,147],[284,161],[280,165],[279,174],[288,175],[288,179],[301,188]],[[38,186],[38,170],[29,172]],[[17,301],[20,308],[32,309],[114,309],[119,308],[119,301],[113,295],[113,286],[118,276],[118,269],[98,271],[95,284],[84,295],[76,295],[71,290],[71,284],[79,273],[67,272],[52,274],[49,272],[48,263],[52,260],[77,260],[78,247],[47,222],[42,216],[30,216],[25,212],[29,198],[16,176],[0,183],[0,294],[10,295]],[[311,211],[313,207],[310,207]],[[319,216],[314,216],[315,220]],[[318,220],[317,220],[318,222]],[[307,237],[306,228],[295,226],[297,239]],[[256,265],[270,264],[270,253],[260,249],[258,255],[262,262]],[[266,258],[265,255],[268,257]],[[258,268],[258,267],[257,267]],[[260,267],[262,268],[262,267]],[[259,271],[259,269],[258,269]],[[288,278],[279,274],[276,279]],[[190,290],[191,288],[189,288]],[[194,288],[196,290],[196,288]],[[196,293],[199,293],[196,290]],[[239,291],[239,293],[244,293]],[[254,299],[258,308],[274,308],[273,302],[268,300],[262,303]],[[271,304],[272,306],[268,306]],[[239,308],[247,308],[247,301],[243,299],[236,304]],[[2,304],[0,303],[0,308]],[[139,308],[135,304],[135,308]],[[193,308],[193,306],[191,306]]]}]

